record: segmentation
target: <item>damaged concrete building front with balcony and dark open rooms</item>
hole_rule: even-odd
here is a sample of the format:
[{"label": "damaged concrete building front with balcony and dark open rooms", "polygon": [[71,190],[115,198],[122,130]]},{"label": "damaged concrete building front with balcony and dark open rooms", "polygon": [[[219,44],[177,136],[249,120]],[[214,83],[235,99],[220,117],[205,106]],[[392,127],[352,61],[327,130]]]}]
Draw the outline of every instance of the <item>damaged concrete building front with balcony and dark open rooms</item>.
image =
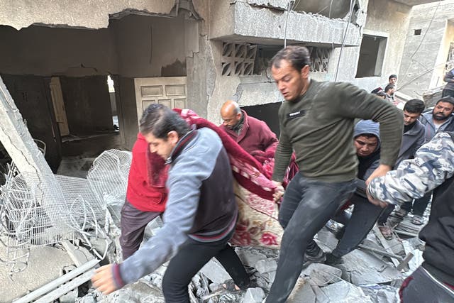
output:
[{"label": "damaged concrete building front with balcony and dark open rooms", "polygon": [[220,123],[234,99],[278,132],[268,62],[284,42],[309,47],[314,79],[370,90],[397,73],[411,7],[431,1],[331,2],[6,1],[0,75],[54,171],[94,143],[131,149],[153,102]]}]

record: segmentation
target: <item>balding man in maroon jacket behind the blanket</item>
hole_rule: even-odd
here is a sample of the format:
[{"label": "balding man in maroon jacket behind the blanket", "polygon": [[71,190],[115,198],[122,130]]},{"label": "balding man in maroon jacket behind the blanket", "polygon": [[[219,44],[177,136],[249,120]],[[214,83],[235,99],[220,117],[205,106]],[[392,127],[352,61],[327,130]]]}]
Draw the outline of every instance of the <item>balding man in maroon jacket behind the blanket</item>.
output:
[{"label": "balding man in maroon jacket behind the blanket", "polygon": [[267,123],[248,116],[238,103],[231,100],[221,107],[221,118],[223,123],[219,127],[247,153],[255,157],[275,157],[278,140]]}]

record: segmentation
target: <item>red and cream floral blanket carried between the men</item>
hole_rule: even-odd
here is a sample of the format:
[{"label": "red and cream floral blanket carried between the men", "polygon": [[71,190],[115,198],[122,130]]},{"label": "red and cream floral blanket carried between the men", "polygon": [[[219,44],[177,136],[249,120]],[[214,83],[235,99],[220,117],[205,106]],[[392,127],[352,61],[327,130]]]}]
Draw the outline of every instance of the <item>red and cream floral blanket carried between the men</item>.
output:
[{"label": "red and cream floral blanket carried between the men", "polygon": [[[265,246],[278,248],[282,238],[282,227],[277,221],[278,205],[273,201],[275,184],[269,179],[274,161],[263,164],[243,150],[221,128],[203,119],[189,109],[174,109],[190,125],[208,127],[218,133],[228,153],[238,203],[238,224],[231,239],[233,245]],[[268,177],[267,177],[268,175]]]}]

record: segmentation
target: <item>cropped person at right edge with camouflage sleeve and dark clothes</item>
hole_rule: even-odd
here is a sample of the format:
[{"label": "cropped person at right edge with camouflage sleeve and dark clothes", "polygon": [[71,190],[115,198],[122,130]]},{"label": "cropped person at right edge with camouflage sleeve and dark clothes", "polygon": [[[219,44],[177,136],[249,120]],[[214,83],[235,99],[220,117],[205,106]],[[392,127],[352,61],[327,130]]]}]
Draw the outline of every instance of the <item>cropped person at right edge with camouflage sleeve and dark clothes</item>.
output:
[{"label": "cropped person at right edge with camouflage sleeve and dark clothes", "polygon": [[428,224],[419,232],[426,242],[423,264],[402,284],[402,302],[454,302],[454,134],[438,133],[414,159],[373,179],[367,194],[379,206],[402,204],[433,190]]}]

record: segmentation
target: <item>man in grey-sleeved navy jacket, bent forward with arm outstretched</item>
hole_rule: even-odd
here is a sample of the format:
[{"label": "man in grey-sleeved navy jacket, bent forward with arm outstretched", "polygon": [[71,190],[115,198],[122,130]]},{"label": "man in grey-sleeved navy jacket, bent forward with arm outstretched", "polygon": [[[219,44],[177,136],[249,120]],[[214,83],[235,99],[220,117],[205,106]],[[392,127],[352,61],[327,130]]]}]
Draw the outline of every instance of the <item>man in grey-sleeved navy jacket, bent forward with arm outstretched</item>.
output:
[{"label": "man in grey-sleeved navy jacket, bent forward with arm outstretched", "polygon": [[162,104],[143,111],[140,133],[150,151],[170,165],[164,226],[123,263],[96,270],[94,286],[109,294],[170,260],[162,280],[165,301],[189,302],[189,282],[215,257],[236,285],[247,287],[249,277],[227,243],[238,206],[221,139],[209,128],[190,130],[182,117]]}]

